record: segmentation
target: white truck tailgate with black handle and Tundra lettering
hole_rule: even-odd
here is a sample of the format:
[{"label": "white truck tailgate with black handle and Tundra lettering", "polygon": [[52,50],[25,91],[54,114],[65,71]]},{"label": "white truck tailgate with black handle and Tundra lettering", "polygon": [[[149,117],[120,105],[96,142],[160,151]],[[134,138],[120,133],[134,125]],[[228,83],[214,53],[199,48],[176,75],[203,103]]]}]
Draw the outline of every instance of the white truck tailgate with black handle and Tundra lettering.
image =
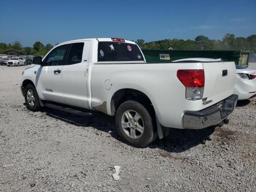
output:
[{"label": "white truck tailgate with black handle and Tundra lettering", "polygon": [[234,92],[234,62],[203,62],[204,94],[202,109],[224,100]]}]

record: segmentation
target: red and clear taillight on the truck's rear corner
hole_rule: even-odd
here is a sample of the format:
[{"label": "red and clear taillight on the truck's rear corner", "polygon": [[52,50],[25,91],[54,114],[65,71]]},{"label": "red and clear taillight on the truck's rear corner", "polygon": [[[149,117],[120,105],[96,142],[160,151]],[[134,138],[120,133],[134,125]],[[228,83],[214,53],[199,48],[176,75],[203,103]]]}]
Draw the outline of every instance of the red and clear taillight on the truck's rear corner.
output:
[{"label": "red and clear taillight on the truck's rear corner", "polygon": [[202,99],[204,93],[204,70],[178,70],[177,77],[186,87],[188,100]]}]

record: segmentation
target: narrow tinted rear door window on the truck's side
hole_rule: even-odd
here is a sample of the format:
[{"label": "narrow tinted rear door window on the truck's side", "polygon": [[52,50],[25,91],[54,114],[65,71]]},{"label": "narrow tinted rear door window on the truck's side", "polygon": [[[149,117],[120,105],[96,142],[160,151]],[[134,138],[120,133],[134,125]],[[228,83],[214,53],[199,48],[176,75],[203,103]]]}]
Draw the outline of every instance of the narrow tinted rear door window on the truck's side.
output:
[{"label": "narrow tinted rear door window on the truck's side", "polygon": [[84,50],[84,43],[72,44],[70,54],[68,57],[68,65],[82,62],[83,50]]}]

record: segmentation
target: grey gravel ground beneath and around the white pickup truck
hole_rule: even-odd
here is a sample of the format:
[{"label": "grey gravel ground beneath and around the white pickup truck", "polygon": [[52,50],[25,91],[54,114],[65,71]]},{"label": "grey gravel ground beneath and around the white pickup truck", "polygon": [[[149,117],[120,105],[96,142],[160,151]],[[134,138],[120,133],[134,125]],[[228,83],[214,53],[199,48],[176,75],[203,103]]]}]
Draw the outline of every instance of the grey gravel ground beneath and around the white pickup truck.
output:
[{"label": "grey gravel ground beneath and around the white pickup truck", "polygon": [[0,66],[0,191],[256,192],[255,98],[238,102],[222,128],[172,129],[133,148],[100,112],[27,110],[18,85],[27,67]]}]

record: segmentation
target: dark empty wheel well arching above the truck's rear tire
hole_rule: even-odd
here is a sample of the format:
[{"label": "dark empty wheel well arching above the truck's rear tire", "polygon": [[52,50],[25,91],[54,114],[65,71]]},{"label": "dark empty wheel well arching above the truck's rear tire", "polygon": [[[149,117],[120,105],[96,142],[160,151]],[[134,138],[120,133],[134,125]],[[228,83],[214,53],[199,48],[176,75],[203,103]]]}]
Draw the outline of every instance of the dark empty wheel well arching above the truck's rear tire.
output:
[{"label": "dark empty wheel well arching above the truck's rear tire", "polygon": [[125,101],[128,100],[134,100],[142,104],[149,112],[154,112],[154,107],[152,105],[152,102],[141,91],[135,90],[135,89],[120,89],[117,92],[114,93],[114,95],[111,98],[111,103],[110,103],[110,109],[111,109],[111,114],[114,115],[118,107]]}]

